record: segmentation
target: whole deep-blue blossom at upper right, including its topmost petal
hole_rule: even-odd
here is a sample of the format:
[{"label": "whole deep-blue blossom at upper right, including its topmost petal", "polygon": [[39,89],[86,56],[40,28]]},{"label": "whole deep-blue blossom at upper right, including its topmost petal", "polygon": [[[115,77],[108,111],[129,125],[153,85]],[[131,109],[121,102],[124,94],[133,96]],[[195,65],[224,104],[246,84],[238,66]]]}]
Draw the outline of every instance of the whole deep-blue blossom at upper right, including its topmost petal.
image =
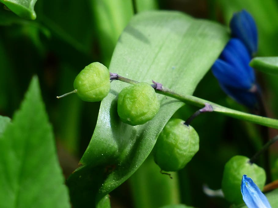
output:
[{"label": "whole deep-blue blossom at upper right, including its topmost petal", "polygon": [[222,88],[237,102],[250,108],[257,105],[258,85],[249,66],[258,48],[258,32],[254,19],[242,10],[230,22],[232,38],[212,66],[212,72]]}]

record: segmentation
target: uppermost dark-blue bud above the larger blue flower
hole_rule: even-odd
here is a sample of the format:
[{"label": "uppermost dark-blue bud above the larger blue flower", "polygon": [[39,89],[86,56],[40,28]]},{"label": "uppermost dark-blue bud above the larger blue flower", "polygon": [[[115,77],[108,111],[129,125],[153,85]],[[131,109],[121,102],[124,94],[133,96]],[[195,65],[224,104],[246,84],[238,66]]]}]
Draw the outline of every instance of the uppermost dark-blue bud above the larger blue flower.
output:
[{"label": "uppermost dark-blue bud above the larger blue flower", "polygon": [[248,48],[250,55],[258,50],[258,31],[255,20],[246,10],[234,13],[230,28],[232,37],[240,39]]}]

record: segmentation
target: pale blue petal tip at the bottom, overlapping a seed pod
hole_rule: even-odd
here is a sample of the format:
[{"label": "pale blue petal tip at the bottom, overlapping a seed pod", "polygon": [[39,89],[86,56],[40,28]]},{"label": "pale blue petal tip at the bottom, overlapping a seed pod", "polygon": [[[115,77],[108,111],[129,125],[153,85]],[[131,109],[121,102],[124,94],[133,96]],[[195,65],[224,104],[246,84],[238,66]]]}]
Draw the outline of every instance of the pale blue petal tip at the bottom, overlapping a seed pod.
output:
[{"label": "pale blue petal tip at the bottom, overlapping a seed pod", "polygon": [[241,180],[241,194],[243,201],[249,208],[271,208],[266,196],[247,175],[243,175]]}]

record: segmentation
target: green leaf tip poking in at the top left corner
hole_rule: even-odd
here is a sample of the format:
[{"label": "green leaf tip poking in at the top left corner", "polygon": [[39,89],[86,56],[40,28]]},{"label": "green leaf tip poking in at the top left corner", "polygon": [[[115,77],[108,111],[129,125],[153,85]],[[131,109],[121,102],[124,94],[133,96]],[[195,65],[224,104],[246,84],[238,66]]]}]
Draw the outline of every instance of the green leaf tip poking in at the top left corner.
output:
[{"label": "green leaf tip poking in at the top left corner", "polygon": [[37,0],[0,0],[12,12],[26,19],[36,19],[34,6]]}]

